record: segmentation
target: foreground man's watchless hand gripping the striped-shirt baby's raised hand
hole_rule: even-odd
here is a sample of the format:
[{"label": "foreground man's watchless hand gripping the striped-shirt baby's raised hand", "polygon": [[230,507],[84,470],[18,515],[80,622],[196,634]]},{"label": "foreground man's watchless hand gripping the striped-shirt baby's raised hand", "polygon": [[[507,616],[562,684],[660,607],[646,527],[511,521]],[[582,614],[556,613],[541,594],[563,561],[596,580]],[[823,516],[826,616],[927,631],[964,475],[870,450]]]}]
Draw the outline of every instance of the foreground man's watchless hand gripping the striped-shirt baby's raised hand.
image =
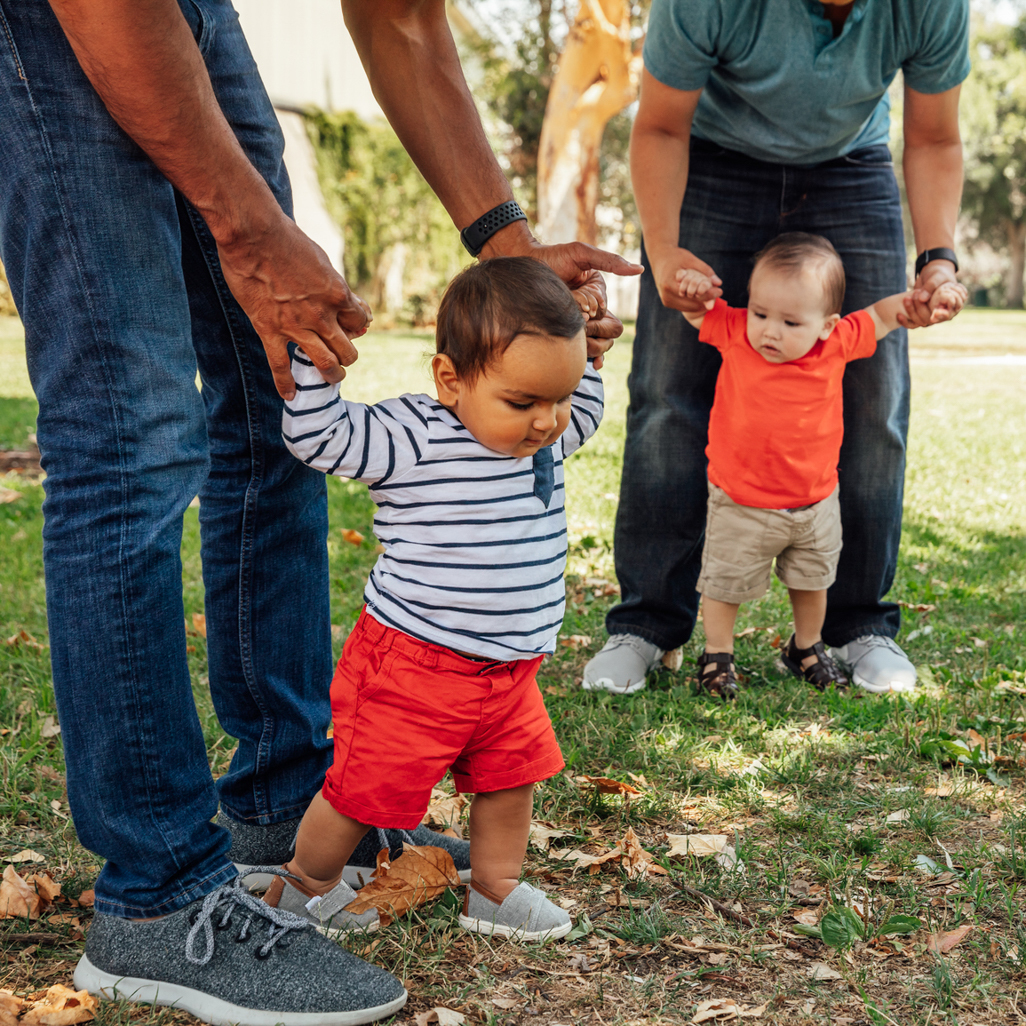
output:
[{"label": "foreground man's watchless hand gripping the striped-shirt baby's raised hand", "polygon": [[[350,291],[324,250],[284,214],[270,228],[218,248],[225,280],[264,343],[274,384],[295,395],[287,343],[294,342],[331,382],[357,358],[370,308]],[[341,365],[340,365],[341,364]]]}]

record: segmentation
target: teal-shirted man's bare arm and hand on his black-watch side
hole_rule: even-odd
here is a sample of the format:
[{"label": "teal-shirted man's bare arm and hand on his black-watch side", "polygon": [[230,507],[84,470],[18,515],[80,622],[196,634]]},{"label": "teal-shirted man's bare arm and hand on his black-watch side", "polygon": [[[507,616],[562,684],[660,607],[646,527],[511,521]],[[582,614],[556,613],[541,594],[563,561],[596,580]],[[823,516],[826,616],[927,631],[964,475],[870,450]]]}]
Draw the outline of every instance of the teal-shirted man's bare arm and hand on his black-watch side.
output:
[{"label": "teal-shirted man's bare arm and hand on his black-watch side", "polygon": [[[905,152],[903,167],[916,252],[954,248],[955,223],[962,189],[962,147],[958,131],[960,86],[934,94],[905,87]],[[947,320],[961,309],[942,308],[937,289],[955,281],[950,261],[932,261],[919,273],[908,294],[900,322],[908,327],[936,323],[943,310]]]}]

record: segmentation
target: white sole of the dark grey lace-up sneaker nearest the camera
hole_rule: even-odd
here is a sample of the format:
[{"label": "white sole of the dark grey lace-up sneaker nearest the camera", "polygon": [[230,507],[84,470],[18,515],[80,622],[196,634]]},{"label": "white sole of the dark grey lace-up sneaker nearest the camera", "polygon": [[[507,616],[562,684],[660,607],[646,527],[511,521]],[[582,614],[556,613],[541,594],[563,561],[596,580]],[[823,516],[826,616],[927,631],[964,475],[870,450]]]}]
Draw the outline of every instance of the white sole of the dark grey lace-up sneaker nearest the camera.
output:
[{"label": "white sole of the dark grey lace-up sneaker nearest the camera", "polygon": [[405,1003],[401,997],[369,1009],[353,1012],[274,1012],[246,1009],[222,1000],[192,987],[155,980],[140,980],[130,976],[112,976],[95,968],[82,955],[75,969],[75,988],[108,1000],[139,1001],[141,1004],[164,1004],[181,1009],[211,1026],[360,1026],[395,1015]]}]

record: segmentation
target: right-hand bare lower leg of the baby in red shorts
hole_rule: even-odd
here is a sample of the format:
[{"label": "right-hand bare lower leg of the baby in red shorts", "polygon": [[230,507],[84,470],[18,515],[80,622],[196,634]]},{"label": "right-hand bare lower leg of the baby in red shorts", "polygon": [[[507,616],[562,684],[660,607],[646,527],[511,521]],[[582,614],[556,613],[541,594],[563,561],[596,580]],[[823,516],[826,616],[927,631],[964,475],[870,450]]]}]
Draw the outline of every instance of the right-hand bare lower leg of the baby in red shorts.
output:
[{"label": "right-hand bare lower leg of the baby in red shorts", "polygon": [[502,901],[520,882],[535,785],[475,794],[470,803],[470,869],[482,891]]}]

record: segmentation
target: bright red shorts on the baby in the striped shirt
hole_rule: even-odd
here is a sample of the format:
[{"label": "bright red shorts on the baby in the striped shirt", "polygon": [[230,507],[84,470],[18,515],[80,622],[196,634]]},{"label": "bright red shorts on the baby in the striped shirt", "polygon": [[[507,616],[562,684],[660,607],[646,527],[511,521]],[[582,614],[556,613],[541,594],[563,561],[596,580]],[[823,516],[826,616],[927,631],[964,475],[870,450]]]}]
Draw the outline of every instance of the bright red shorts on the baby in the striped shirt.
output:
[{"label": "bright red shorts on the baby in the striped shirt", "polygon": [[343,816],[412,830],[451,768],[460,791],[505,791],[559,773],[535,674],[542,657],[468,659],[366,609],[331,681],[334,762],[323,795]]}]

